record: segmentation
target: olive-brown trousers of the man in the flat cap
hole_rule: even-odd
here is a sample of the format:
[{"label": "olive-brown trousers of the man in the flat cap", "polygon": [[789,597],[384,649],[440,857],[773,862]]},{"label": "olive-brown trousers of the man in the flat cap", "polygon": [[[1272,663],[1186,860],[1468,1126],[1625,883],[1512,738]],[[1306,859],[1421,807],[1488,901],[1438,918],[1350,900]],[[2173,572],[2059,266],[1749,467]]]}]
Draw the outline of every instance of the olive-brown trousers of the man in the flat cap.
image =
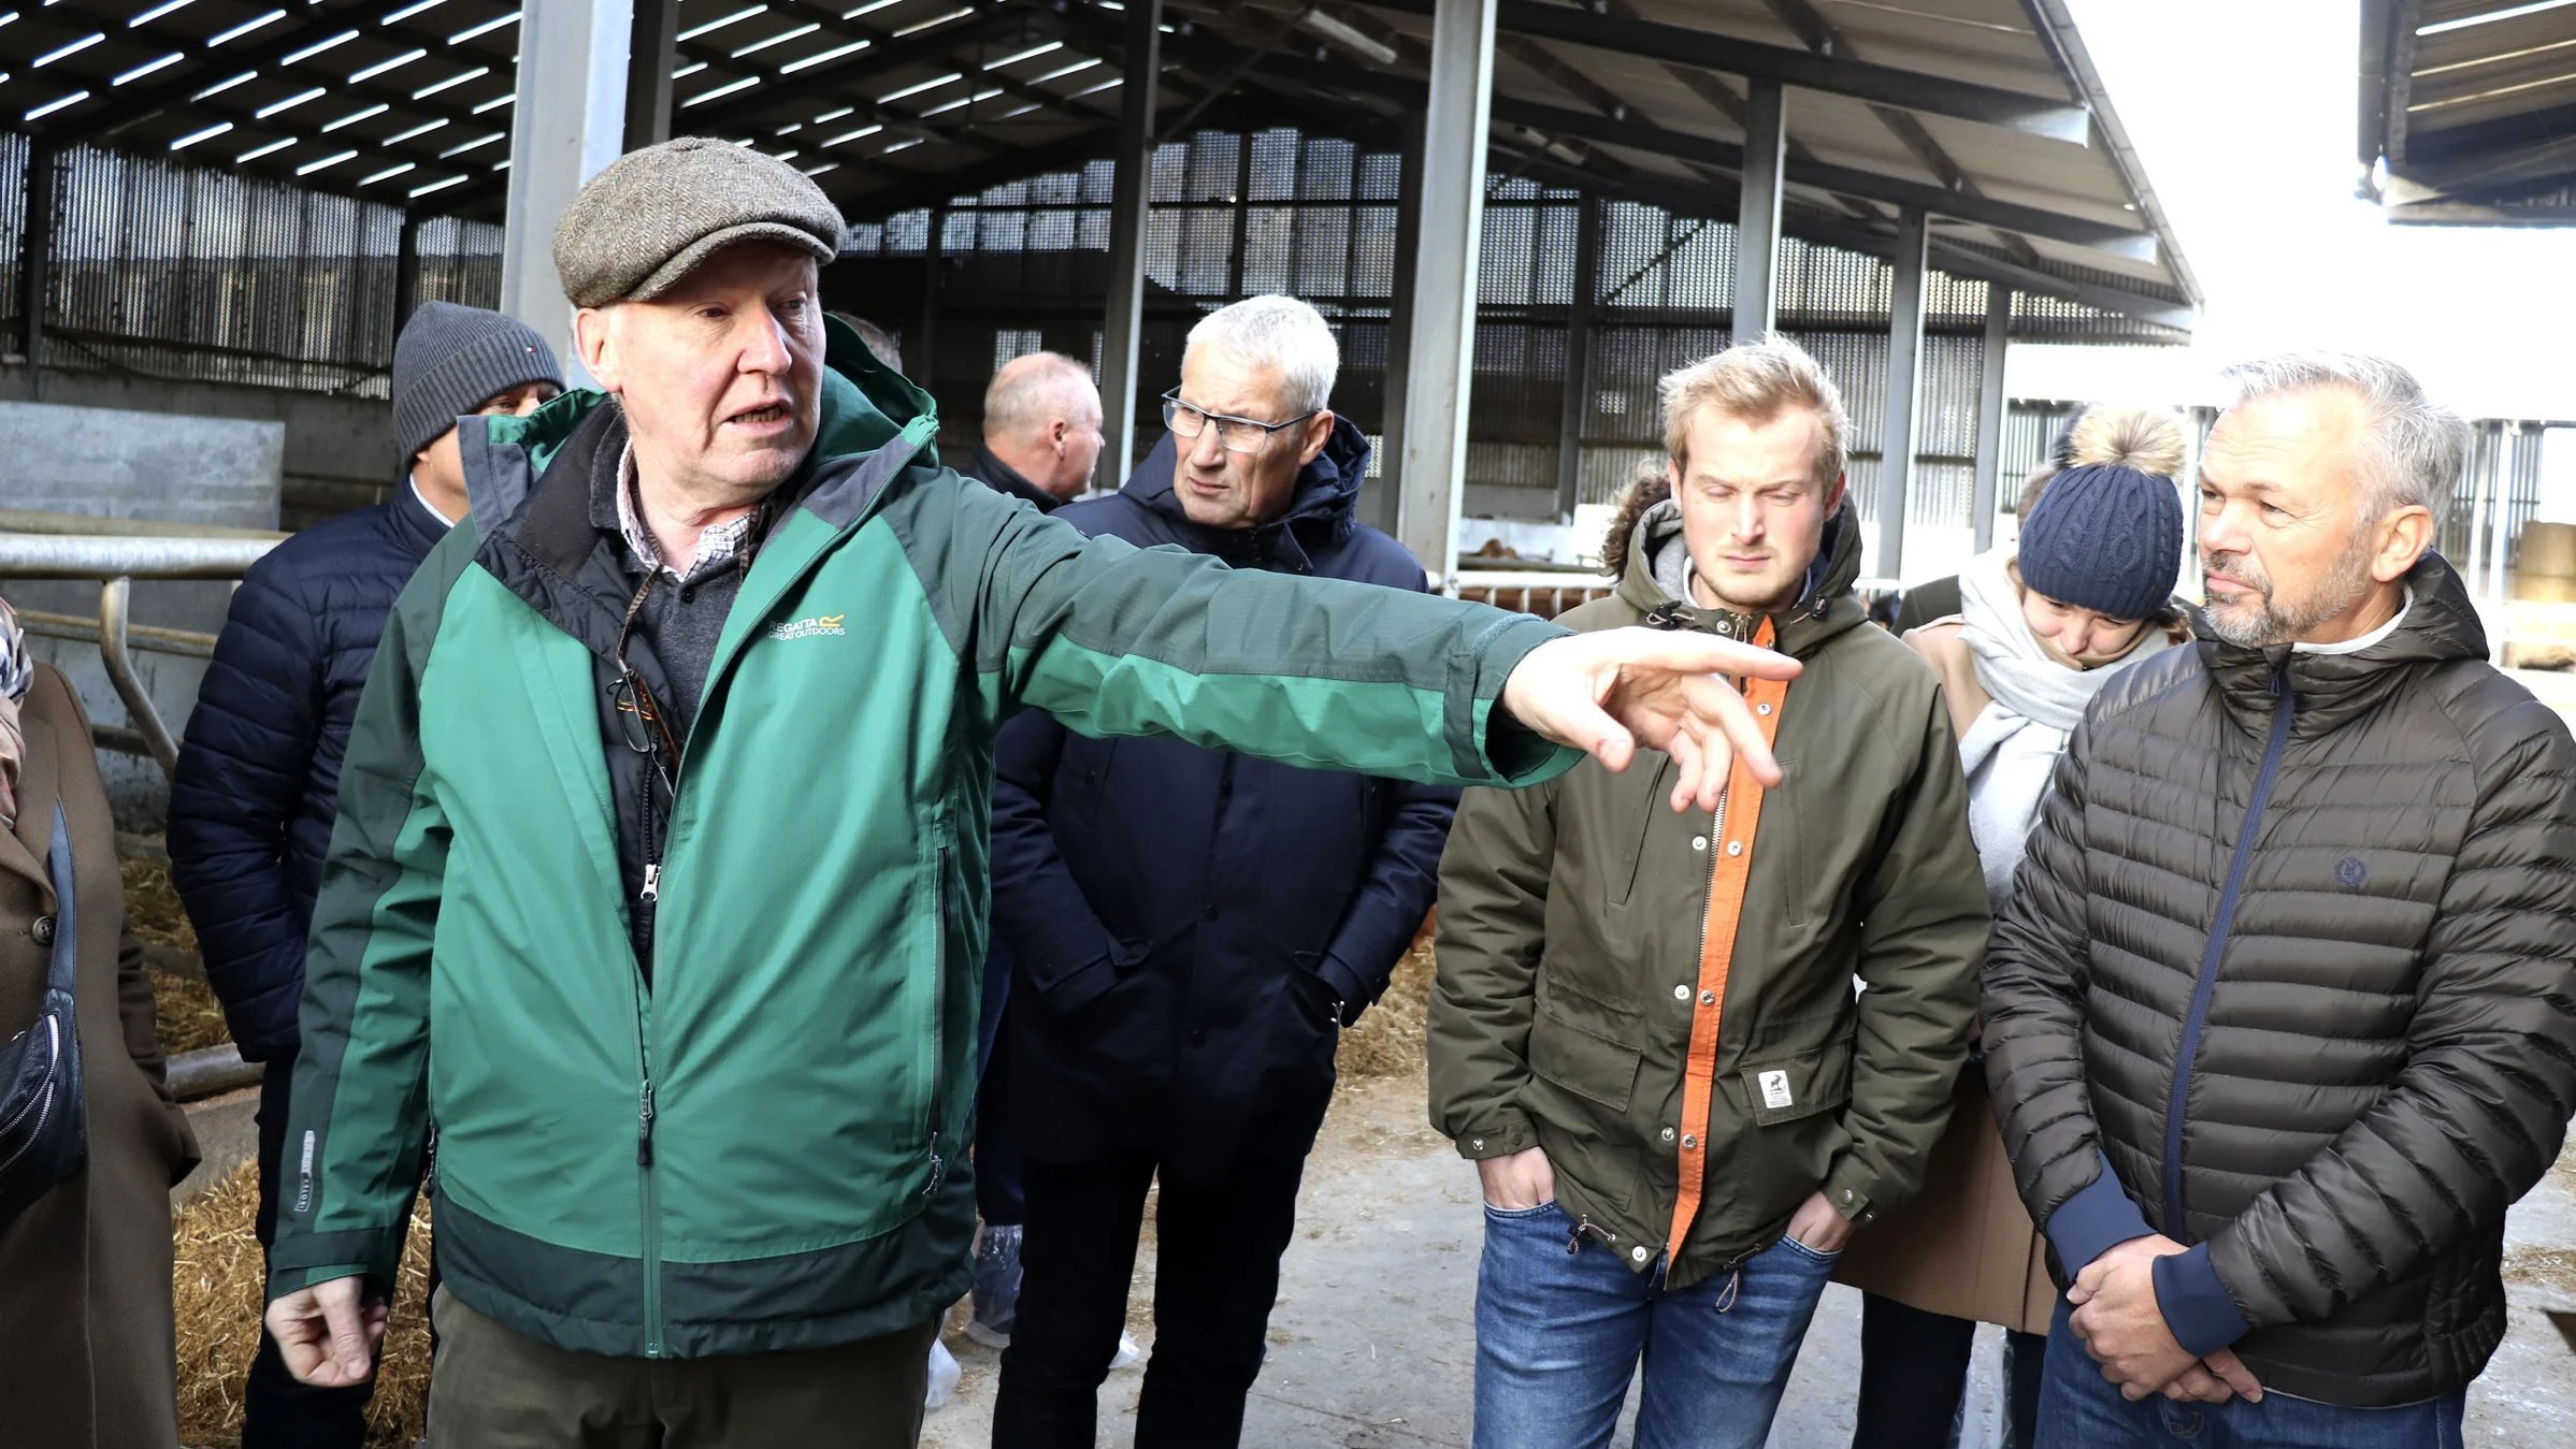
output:
[{"label": "olive-brown trousers of the man in the flat cap", "polygon": [[605,1359],[438,1289],[430,1449],[914,1449],[938,1323],[840,1349]]}]

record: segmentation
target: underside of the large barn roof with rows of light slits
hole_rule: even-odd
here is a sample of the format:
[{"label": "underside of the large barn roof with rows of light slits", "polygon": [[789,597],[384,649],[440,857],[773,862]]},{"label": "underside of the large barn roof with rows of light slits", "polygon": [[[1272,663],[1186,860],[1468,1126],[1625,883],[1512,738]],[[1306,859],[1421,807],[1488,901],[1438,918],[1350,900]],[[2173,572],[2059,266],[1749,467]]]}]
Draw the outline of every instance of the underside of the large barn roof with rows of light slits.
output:
[{"label": "underside of the large barn roof with rows of light slits", "polygon": [[[106,3],[0,0],[0,126],[500,216],[507,0]],[[1164,93],[1211,124],[1383,136],[1422,88],[1427,15],[1167,0]],[[1100,0],[683,0],[672,131],[886,216],[1105,152],[1121,26]],[[1502,0],[1502,165],[1726,214],[1747,67],[1793,85],[1793,232],[1870,245],[1919,203],[1953,270],[2164,322],[2197,304],[2058,0]]]}]

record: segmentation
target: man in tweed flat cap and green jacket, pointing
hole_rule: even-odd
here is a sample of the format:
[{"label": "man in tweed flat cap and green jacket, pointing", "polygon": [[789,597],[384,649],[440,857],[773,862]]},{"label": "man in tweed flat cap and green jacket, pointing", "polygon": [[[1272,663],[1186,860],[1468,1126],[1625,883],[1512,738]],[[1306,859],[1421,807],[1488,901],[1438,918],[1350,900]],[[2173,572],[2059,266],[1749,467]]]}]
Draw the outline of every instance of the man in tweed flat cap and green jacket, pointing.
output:
[{"label": "man in tweed flat cap and green jacket, pointing", "polygon": [[842,229],[714,139],[590,178],[554,263],[603,391],[466,420],[471,517],[358,705],[268,1328],[307,1382],[371,1374],[435,1114],[438,1449],[920,1439],[1010,713],[1430,785],[1669,749],[1677,808],[1736,749],[1777,777],[1713,677],[1795,672],[1767,651],[1224,569],[961,481],[930,396],[824,324]]}]

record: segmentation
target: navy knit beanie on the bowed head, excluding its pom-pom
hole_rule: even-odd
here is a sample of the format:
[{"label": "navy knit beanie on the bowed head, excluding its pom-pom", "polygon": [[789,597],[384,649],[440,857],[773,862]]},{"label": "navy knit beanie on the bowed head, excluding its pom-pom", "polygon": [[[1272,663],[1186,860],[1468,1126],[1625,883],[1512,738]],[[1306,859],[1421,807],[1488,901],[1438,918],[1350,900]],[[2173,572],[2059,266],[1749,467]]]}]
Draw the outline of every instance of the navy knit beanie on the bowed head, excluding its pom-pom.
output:
[{"label": "navy knit beanie on the bowed head, excluding its pom-pom", "polygon": [[2182,494],[2120,463],[2058,474],[2022,520],[2022,584],[2110,618],[2146,618],[2182,577]]}]

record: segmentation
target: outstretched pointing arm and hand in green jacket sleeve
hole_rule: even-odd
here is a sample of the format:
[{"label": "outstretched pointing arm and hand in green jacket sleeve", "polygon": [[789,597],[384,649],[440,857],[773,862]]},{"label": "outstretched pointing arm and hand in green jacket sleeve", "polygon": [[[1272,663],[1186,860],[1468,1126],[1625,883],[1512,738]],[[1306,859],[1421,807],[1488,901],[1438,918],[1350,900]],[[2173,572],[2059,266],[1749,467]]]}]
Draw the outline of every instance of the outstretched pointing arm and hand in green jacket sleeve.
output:
[{"label": "outstretched pointing arm and hand in green jacket sleeve", "polygon": [[[902,528],[943,553],[940,618],[994,705],[1095,734],[1172,734],[1288,764],[1427,785],[1530,785],[1574,752],[1677,762],[1713,808],[1734,749],[1777,780],[1721,674],[1798,664],[1716,636],[1569,636],[1484,605],[1298,579],[1084,538],[994,494],[927,481]],[[1564,749],[1571,746],[1571,749]]]}]

